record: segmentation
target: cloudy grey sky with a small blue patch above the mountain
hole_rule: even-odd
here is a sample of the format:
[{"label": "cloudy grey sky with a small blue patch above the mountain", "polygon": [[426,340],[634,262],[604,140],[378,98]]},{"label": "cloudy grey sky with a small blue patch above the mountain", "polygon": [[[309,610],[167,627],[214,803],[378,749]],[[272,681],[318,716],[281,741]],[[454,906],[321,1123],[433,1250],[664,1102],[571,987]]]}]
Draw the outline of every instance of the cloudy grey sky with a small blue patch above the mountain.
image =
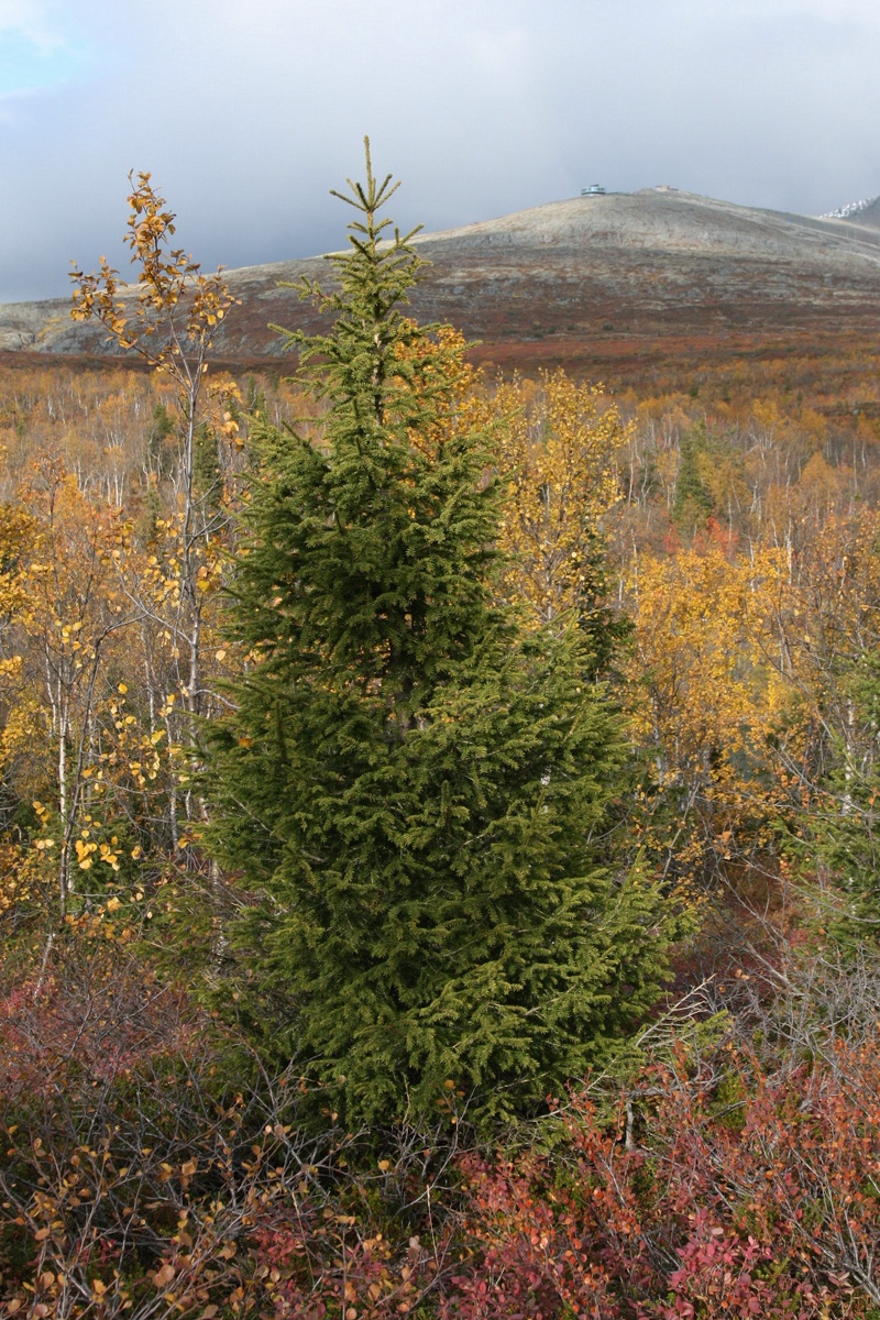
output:
[{"label": "cloudy grey sky with a small blue patch above the mountain", "polygon": [[129,170],[204,269],[657,183],[822,214],[880,194],[877,0],[0,0],[0,301],[123,272]]}]

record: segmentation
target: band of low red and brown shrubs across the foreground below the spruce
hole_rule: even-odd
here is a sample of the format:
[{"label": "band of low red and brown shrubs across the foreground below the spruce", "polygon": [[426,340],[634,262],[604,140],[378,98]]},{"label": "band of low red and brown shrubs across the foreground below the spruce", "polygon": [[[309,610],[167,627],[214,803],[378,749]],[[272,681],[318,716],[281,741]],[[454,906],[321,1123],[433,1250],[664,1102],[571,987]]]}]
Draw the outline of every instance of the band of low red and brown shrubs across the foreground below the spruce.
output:
[{"label": "band of low red and brown shrubs across the foreground below the spruce", "polygon": [[489,1148],[453,1096],[433,1131],[302,1122],[307,1082],[78,932],[0,1005],[4,1313],[868,1320],[877,978],[776,974]]}]

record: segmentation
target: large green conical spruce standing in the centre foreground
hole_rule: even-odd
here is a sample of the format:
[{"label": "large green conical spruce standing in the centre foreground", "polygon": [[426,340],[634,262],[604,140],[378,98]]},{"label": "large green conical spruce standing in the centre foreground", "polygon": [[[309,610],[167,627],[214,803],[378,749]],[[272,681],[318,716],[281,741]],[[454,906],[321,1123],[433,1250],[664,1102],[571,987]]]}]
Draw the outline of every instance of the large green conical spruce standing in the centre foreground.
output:
[{"label": "large green conical spruce standing in the centre foreground", "polygon": [[532,1111],[664,975],[660,900],[610,841],[617,717],[577,628],[496,603],[492,436],[460,339],[406,315],[394,186],[367,145],[338,289],[310,289],[335,323],[297,338],[321,434],[260,432],[248,671],[207,731],[214,846],[249,894],[239,1008],[350,1122],[437,1113],[450,1084]]}]

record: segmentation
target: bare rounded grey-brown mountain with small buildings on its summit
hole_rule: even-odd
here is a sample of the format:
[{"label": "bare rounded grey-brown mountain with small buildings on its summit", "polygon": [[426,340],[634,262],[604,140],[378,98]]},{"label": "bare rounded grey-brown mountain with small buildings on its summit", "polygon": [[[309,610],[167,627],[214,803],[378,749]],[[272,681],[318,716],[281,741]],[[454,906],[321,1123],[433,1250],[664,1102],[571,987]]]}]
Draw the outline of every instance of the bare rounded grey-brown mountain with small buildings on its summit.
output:
[{"label": "bare rounded grey-brown mountain with small buildings on its summit", "polygon": [[[876,333],[879,323],[880,198],[846,218],[811,218],[660,186],[550,202],[417,243],[431,268],[414,315],[451,321],[489,358],[526,343],[565,355],[603,335]],[[216,337],[218,355],[277,355],[269,322],[317,327],[314,310],[278,288],[301,275],[330,271],[311,257],[227,272],[241,306]],[[0,348],[108,351],[69,308],[0,305]]]}]

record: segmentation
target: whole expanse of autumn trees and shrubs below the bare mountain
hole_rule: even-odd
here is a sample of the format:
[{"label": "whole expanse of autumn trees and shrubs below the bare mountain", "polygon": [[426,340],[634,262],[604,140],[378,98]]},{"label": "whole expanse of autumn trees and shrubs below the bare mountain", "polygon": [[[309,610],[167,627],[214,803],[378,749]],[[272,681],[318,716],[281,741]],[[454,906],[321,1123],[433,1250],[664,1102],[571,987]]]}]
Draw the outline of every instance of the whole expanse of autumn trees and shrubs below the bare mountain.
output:
[{"label": "whole expanse of autumn trees and shrubs below the bare mountain", "polygon": [[392,191],[0,363],[3,1313],[876,1317],[876,352],[505,379]]}]

